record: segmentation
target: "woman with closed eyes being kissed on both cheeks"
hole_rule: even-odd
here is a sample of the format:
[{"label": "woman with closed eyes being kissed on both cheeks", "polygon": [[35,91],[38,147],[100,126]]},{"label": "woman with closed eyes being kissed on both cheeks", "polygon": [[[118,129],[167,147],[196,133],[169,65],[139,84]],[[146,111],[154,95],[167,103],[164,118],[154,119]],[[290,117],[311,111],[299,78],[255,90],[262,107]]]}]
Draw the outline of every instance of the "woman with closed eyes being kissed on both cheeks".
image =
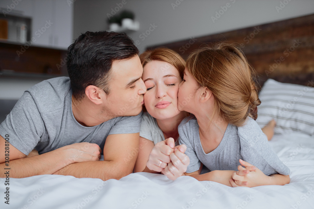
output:
[{"label": "woman with closed eyes being kissed on both cheeks", "polygon": [[[144,95],[147,112],[142,118],[140,149],[134,172],[162,172],[175,180],[189,164],[184,154],[186,146],[176,146],[178,126],[188,115],[177,107],[178,85],[183,78],[185,61],[167,48],[145,51],[140,59],[144,70],[142,79],[147,87]],[[273,122],[266,126],[270,135],[273,127]]]}]

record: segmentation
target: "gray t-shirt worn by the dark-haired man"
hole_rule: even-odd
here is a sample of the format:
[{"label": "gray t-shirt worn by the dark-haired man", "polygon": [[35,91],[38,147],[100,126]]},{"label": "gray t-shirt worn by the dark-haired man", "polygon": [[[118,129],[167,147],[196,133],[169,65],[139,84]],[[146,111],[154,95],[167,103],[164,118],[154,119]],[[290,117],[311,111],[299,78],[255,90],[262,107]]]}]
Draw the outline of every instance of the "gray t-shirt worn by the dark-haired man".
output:
[{"label": "gray t-shirt worn by the dark-haired man", "polygon": [[28,155],[34,148],[40,153],[79,143],[95,143],[104,148],[110,134],[138,133],[137,116],[117,117],[97,126],[85,127],[72,112],[72,89],[68,77],[42,81],[25,91],[0,125],[0,135]]}]

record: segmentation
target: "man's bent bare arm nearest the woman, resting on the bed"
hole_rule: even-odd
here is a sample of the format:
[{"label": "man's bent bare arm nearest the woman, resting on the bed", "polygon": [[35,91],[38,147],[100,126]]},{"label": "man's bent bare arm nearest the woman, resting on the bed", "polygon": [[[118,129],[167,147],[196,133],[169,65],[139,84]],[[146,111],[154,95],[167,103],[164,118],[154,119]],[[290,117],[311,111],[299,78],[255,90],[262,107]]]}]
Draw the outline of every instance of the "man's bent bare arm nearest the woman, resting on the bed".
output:
[{"label": "man's bent bare arm nearest the woman, resting on the bed", "polygon": [[108,135],[104,146],[104,161],[73,163],[54,174],[102,180],[121,179],[132,173],[138,145],[139,133]]}]

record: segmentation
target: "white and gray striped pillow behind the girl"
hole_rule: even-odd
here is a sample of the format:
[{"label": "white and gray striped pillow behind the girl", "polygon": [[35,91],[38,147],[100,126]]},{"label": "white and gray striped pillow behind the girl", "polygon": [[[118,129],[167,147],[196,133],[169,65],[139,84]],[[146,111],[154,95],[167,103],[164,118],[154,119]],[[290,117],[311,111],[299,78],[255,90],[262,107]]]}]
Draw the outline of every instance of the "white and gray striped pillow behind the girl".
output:
[{"label": "white and gray striped pillow behind the girl", "polygon": [[271,119],[277,123],[275,134],[302,132],[314,136],[314,82],[307,86],[268,79],[259,93],[258,125]]}]

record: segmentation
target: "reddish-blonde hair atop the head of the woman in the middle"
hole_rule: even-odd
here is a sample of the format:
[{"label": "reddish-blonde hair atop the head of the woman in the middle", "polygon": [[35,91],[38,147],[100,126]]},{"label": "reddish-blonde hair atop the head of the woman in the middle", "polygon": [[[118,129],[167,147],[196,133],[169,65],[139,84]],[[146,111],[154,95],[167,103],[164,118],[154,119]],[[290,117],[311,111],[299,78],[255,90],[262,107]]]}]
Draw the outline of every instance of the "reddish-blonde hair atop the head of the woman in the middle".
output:
[{"label": "reddish-blonde hair atop the head of the woman in the middle", "polygon": [[183,79],[183,72],[186,63],[178,53],[169,48],[160,47],[154,50],[147,50],[143,52],[139,58],[143,67],[152,60],[168,62],[179,71],[181,79]]}]

